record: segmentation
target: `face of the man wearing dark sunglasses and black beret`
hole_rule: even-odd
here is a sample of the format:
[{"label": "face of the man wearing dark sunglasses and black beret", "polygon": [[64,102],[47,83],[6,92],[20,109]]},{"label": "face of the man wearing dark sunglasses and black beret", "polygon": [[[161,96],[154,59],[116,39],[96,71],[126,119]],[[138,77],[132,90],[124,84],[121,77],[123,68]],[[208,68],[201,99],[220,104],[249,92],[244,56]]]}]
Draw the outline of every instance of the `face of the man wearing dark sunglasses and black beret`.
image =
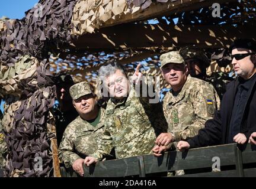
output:
[{"label": "face of the man wearing dark sunglasses and black beret", "polygon": [[[232,56],[245,53],[252,53],[252,51],[246,48],[234,48],[232,50]],[[241,60],[236,60],[236,58],[232,59],[233,70],[238,76],[241,76],[244,79],[249,79],[249,77],[255,73],[255,63],[255,54],[249,55]]]}]

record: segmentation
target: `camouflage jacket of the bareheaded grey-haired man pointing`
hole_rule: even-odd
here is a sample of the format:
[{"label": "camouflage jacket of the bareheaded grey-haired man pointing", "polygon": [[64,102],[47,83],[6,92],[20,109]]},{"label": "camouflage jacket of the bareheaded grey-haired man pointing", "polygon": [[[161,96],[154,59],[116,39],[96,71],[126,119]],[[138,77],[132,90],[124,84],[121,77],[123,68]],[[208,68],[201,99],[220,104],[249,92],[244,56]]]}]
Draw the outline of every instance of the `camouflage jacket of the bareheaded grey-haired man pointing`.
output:
[{"label": "camouflage jacket of the bareheaded grey-haired man pointing", "polygon": [[156,136],[167,132],[168,125],[161,103],[149,104],[146,99],[138,97],[131,87],[129,96],[122,102],[115,104],[113,98],[108,100],[104,137],[93,157],[100,160],[113,147],[116,158],[151,153]]}]

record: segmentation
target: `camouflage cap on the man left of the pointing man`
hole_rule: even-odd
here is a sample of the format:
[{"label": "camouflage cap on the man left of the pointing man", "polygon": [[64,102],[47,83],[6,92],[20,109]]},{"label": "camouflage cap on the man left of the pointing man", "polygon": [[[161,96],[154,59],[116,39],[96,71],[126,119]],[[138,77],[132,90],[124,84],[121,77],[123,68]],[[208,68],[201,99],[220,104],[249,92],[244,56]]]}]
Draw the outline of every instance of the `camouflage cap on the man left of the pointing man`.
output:
[{"label": "camouflage cap on the man left of the pointing man", "polygon": [[76,83],[69,89],[69,93],[73,100],[79,99],[79,97],[94,93],[91,88],[91,84],[87,82]]}]

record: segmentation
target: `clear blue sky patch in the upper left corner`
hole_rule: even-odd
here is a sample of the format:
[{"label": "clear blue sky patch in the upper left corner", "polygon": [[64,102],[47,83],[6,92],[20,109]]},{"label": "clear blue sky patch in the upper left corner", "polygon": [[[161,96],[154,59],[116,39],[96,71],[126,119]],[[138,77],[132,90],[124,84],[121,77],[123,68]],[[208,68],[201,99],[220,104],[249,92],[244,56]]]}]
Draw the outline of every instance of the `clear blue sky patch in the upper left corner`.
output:
[{"label": "clear blue sky patch in the upper left corner", "polygon": [[21,19],[25,11],[31,9],[39,0],[1,0],[0,18],[6,16],[11,19]]}]

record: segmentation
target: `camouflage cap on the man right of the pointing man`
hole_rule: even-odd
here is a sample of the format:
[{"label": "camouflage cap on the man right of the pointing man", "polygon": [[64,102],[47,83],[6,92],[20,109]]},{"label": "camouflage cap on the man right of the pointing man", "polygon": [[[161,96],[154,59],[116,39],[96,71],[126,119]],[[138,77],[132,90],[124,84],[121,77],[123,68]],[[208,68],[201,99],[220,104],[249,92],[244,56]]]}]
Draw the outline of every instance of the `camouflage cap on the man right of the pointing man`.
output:
[{"label": "camouflage cap on the man right of the pointing man", "polygon": [[160,68],[162,68],[168,63],[182,64],[184,63],[184,59],[183,57],[181,57],[178,51],[171,51],[171,52],[162,54],[160,56],[160,62],[161,62]]}]

